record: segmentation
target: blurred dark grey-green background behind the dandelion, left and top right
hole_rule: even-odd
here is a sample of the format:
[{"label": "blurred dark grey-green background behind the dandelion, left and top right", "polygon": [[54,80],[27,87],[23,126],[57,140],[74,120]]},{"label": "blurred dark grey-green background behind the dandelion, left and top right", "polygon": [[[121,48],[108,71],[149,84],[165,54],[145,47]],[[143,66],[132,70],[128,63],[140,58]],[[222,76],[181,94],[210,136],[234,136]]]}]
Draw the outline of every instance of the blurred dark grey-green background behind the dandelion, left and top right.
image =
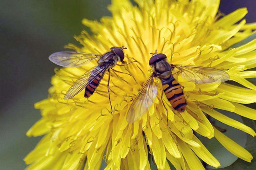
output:
[{"label": "blurred dark grey-green background behind the dandelion, left and top right", "polygon": [[[111,0],[0,0],[0,170],[23,170],[23,158],[40,140],[26,131],[40,119],[34,103],[47,98],[54,65],[48,56],[76,43],[87,28],[83,18],[110,15]],[[222,0],[230,13],[247,7],[247,22],[256,22],[255,0]],[[250,169],[248,169],[250,170]]]}]

